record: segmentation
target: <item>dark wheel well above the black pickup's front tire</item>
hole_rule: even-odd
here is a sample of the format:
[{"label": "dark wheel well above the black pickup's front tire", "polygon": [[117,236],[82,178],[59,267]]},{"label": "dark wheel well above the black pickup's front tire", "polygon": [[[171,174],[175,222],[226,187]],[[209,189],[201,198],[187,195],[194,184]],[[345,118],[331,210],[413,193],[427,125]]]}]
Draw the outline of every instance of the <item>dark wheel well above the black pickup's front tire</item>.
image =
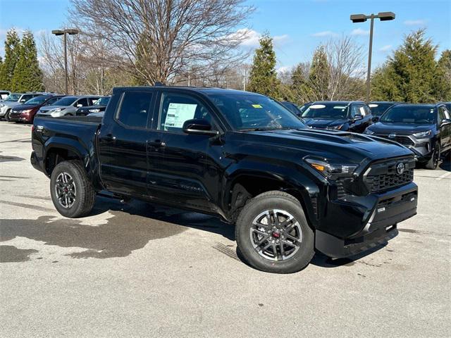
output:
[{"label": "dark wheel well above the black pickup's front tire", "polygon": [[[270,177],[255,177],[243,175],[240,176],[230,189],[230,202],[228,204],[228,211],[230,218],[235,221],[243,206],[253,197],[270,192],[273,190],[287,192],[299,201],[302,208],[305,209],[304,199],[298,189],[295,189],[287,182],[276,180]],[[307,216],[307,213],[306,213]]]}]

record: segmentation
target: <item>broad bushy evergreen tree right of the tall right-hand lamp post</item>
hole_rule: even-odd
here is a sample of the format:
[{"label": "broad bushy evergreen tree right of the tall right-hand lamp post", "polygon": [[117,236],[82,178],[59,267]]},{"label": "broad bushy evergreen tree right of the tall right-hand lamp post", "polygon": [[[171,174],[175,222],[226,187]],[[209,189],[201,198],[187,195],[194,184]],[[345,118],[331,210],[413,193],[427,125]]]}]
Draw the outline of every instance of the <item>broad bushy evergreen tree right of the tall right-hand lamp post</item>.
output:
[{"label": "broad bushy evergreen tree right of the tall right-hand lamp post", "polygon": [[444,68],[435,61],[438,47],[424,35],[425,30],[407,35],[402,46],[373,73],[373,100],[421,103],[445,99],[449,83],[445,83]]}]

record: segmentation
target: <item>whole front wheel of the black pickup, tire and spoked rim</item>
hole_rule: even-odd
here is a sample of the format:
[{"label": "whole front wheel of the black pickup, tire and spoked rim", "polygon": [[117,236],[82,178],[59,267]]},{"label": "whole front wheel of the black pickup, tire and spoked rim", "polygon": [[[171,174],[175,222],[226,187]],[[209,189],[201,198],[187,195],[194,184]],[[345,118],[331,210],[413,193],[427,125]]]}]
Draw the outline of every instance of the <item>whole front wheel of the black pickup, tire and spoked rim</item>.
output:
[{"label": "whole front wheel of the black pickup, tire and spoked rim", "polygon": [[299,201],[285,192],[265,192],[249,201],[235,237],[245,261],[268,273],[295,273],[314,256],[314,232]]}]

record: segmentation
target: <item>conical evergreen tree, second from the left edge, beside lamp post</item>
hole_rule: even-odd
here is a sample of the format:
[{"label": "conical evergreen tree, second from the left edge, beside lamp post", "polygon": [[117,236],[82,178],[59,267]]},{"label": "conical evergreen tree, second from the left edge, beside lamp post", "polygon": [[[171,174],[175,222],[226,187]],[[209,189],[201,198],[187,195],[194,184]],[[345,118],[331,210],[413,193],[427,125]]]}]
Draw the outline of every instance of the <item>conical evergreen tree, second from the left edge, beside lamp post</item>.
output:
[{"label": "conical evergreen tree, second from the left edge, beside lamp post", "polygon": [[40,92],[44,90],[42,70],[39,68],[39,61],[37,61],[35,38],[30,31],[23,34],[19,59],[11,79],[11,88],[17,92]]}]

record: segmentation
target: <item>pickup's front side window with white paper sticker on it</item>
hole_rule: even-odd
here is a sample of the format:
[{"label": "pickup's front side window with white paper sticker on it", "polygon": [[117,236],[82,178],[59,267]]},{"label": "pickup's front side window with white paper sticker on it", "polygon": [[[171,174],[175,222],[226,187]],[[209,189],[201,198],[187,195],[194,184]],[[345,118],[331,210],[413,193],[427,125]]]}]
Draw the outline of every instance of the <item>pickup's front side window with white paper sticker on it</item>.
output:
[{"label": "pickup's front side window with white paper sticker on it", "polygon": [[197,99],[175,93],[161,95],[158,130],[182,132],[183,123],[192,118],[207,120],[213,124],[208,109]]}]

